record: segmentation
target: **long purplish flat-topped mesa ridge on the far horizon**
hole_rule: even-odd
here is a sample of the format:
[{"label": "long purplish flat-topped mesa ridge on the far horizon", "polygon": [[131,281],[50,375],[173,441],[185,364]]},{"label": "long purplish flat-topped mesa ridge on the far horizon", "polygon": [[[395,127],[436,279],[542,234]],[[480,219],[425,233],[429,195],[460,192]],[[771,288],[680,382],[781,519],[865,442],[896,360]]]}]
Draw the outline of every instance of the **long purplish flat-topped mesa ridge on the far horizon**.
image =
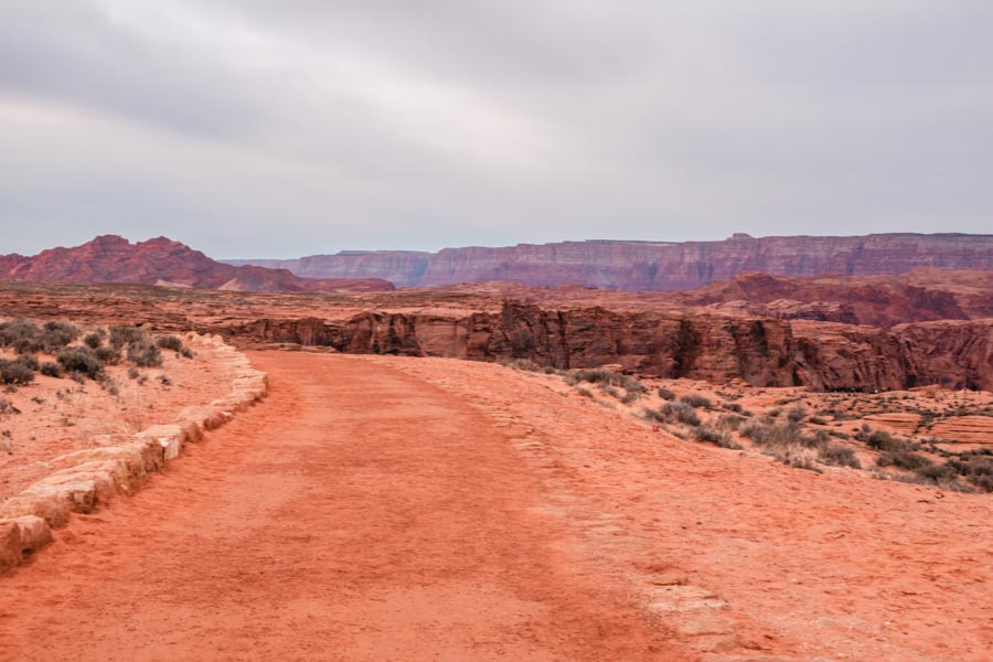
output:
[{"label": "long purplish flat-topped mesa ridge on the far horizon", "polygon": [[694,289],[744,271],[797,278],[898,275],[920,267],[993,270],[993,235],[746,234],[718,242],[587,241],[470,246],[438,253],[348,250],[299,259],[224,260],[289,269],[308,278],[383,278],[397,287],[509,280],[531,286],[583,285],[618,290]]}]

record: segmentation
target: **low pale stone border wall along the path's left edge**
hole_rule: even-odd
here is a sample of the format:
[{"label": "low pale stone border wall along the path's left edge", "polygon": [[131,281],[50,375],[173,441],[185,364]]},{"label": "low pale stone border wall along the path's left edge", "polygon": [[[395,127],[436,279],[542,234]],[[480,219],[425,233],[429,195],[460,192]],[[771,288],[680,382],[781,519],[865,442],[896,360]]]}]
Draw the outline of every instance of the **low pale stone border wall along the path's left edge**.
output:
[{"label": "low pale stone border wall along the path's left edge", "polygon": [[105,436],[94,440],[94,448],[53,459],[53,473],[0,505],[0,573],[49,544],[51,530],[65,525],[72,513],[88,513],[116,494],[134,493],[149,473],[179,457],[184,445],[200,441],[204,431],[221,427],[268,393],[266,373],[253,369],[220,337],[189,334],[184,342],[233,369],[228,395],[186,407],[173,424]]}]

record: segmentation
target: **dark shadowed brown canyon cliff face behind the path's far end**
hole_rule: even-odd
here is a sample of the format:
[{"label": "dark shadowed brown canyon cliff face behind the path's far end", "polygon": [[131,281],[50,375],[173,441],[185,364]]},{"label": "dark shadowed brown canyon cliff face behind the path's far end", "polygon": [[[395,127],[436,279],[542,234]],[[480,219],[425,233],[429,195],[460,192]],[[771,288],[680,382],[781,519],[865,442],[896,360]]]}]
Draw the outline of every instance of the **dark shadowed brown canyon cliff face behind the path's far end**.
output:
[{"label": "dark shadowed brown canyon cliff face behind the path's far end", "polygon": [[246,341],[340,352],[527,359],[556,369],[609,363],[656,377],[757,386],[890,391],[930,383],[993,389],[993,320],[905,324],[893,331],[833,322],[700,311],[618,312],[505,302],[498,313],[363,312],[346,320],[265,319],[218,332]]}]

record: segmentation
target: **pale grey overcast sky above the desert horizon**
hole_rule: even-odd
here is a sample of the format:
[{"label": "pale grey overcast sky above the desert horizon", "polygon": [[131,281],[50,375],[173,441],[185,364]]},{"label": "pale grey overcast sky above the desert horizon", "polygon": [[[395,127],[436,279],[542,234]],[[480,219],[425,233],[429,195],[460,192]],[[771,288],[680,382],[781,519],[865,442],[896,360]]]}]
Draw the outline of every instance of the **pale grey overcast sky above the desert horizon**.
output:
[{"label": "pale grey overcast sky above the desert horizon", "polygon": [[990,0],[0,0],[0,253],[993,232]]}]

